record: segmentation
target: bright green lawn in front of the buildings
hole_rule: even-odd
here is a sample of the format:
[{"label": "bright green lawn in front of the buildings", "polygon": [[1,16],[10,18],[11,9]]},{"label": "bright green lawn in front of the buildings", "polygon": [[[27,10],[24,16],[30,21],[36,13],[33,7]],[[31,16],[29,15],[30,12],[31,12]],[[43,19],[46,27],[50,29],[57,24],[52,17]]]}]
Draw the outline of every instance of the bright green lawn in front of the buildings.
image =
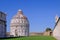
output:
[{"label": "bright green lawn in front of the buildings", "polygon": [[4,38],[0,40],[56,40],[51,36],[30,36],[30,37],[18,37],[18,38]]}]

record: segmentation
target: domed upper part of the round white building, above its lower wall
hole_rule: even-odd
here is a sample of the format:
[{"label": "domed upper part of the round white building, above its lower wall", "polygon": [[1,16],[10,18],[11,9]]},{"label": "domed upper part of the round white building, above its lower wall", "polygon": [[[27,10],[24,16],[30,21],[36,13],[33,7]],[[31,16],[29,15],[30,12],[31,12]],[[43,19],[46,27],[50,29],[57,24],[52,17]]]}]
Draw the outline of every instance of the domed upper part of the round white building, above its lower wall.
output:
[{"label": "domed upper part of the round white building, above its lower wall", "polygon": [[22,23],[28,24],[28,19],[23,15],[22,10],[18,10],[17,14],[13,16],[11,20],[11,25],[20,25]]}]

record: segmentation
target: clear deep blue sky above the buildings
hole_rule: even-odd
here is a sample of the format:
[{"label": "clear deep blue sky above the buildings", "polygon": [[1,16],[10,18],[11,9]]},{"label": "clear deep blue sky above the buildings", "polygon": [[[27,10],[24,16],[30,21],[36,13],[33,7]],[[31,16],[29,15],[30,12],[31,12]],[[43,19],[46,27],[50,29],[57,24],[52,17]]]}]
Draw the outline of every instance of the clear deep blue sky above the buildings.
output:
[{"label": "clear deep blue sky above the buildings", "polygon": [[47,27],[54,28],[55,16],[60,16],[58,0],[0,0],[0,11],[7,14],[7,31],[10,20],[22,9],[29,20],[30,32],[43,32]]}]

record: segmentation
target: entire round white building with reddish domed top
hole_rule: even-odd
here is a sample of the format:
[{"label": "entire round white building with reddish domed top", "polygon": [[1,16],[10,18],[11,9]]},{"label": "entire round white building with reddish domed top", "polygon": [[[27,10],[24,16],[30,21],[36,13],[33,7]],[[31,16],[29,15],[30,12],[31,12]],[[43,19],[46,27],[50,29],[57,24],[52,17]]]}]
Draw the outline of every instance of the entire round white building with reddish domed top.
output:
[{"label": "entire round white building with reddish domed top", "polygon": [[23,15],[22,10],[18,10],[17,14],[13,16],[10,23],[10,36],[29,36],[29,21]]}]

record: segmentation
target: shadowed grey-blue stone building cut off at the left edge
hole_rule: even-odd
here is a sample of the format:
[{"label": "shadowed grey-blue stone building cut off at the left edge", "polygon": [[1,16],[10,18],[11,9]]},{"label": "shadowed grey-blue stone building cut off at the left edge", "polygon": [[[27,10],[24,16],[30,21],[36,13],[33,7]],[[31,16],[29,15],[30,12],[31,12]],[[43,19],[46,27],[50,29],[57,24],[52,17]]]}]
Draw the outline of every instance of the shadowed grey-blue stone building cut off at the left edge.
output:
[{"label": "shadowed grey-blue stone building cut off at the left edge", "polygon": [[0,11],[0,37],[6,37],[6,14]]}]

